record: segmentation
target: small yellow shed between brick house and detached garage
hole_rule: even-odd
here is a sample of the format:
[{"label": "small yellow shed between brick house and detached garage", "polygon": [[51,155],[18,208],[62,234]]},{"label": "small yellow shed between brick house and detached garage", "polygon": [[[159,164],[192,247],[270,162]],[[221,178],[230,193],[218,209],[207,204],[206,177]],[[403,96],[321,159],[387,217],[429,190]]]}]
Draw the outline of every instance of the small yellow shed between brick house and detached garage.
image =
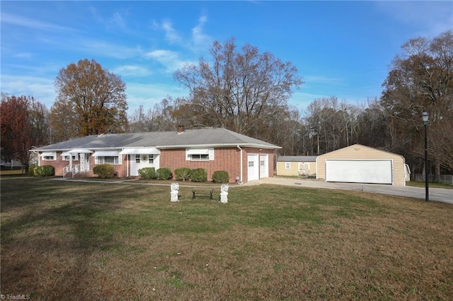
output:
[{"label": "small yellow shed between brick house and detached garage", "polygon": [[316,176],[316,155],[280,155],[277,158],[277,175]]}]

